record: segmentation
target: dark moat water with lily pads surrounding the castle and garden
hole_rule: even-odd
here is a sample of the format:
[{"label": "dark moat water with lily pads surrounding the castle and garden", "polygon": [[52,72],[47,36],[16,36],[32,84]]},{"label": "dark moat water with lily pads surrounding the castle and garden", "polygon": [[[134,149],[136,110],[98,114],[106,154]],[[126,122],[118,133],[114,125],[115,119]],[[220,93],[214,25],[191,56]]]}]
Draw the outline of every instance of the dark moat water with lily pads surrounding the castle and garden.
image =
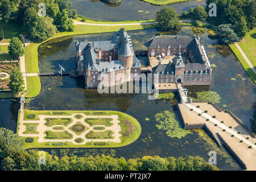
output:
[{"label": "dark moat water with lily pads surrounding the castle and garden", "polygon": [[[155,35],[156,29],[129,31],[133,46],[136,50],[146,50],[146,42]],[[210,86],[203,88],[188,88],[189,92],[196,90],[214,90],[221,96],[222,108],[232,110],[246,126],[250,127],[249,119],[253,115],[253,105],[256,86],[247,76],[240,62],[227,46],[218,46],[217,40],[208,37],[209,32],[203,30],[191,30],[185,26],[177,32],[166,34],[178,34],[180,36],[200,35],[201,44],[207,51],[213,67],[213,75]],[[112,33],[68,36],[65,38],[52,39],[39,47],[40,72],[56,72],[58,64],[65,69],[75,68],[75,41],[105,40]],[[95,89],[84,89],[84,78],[72,78],[69,76],[46,76],[40,77],[42,89],[38,96],[25,105],[26,109],[32,110],[118,110],[135,117],[142,127],[141,136],[134,143],[121,148],[104,149],[45,149],[52,155],[97,155],[105,154],[116,157],[137,158],[144,155],[159,155],[162,157],[186,155],[199,155],[205,160],[209,159],[208,152],[217,152],[217,167],[224,170],[240,170],[241,167],[223,147],[210,139],[204,130],[193,130],[181,139],[170,138],[155,125],[155,114],[164,110],[172,110],[170,103],[156,100],[147,100],[147,94],[105,94],[100,95]],[[14,109],[10,109],[13,108]],[[16,130],[16,115],[18,101],[0,101],[0,127]],[[179,117],[176,113],[176,117]],[[11,119],[10,119],[11,118]],[[150,121],[145,121],[150,118]],[[151,137],[151,140],[147,138]]]}]

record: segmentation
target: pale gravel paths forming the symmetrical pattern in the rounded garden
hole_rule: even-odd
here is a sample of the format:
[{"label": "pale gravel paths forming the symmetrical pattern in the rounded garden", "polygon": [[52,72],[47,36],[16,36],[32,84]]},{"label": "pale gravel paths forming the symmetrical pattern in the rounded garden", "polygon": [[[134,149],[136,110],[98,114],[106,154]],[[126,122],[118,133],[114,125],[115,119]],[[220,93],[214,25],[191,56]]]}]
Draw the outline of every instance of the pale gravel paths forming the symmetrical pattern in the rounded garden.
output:
[{"label": "pale gravel paths forming the symmetrical pattern in the rounded garden", "polygon": [[[23,104],[20,104],[20,106],[22,106]],[[82,115],[82,118],[80,119],[76,119],[74,116],[76,114],[80,114]],[[94,125],[94,126],[89,126],[87,123],[84,122],[85,118],[112,118],[113,120],[111,121],[111,123],[113,123],[112,126],[105,126],[105,125]],[[116,143],[120,143],[121,139],[120,137],[122,136],[121,134],[119,134],[119,132],[121,131],[121,126],[118,125],[118,123],[120,122],[118,120],[118,115],[85,115],[83,113],[74,113],[72,115],[60,115],[59,118],[72,118],[73,122],[69,123],[68,126],[63,126],[63,125],[54,125],[54,126],[46,126],[44,125],[44,123],[46,123],[46,121],[44,120],[45,118],[58,118],[57,115],[39,115],[39,120],[35,120],[35,121],[24,121],[24,111],[22,109],[22,112],[20,113],[20,118],[19,118],[19,130],[18,130],[18,134],[19,136],[22,137],[39,137],[38,142],[39,143],[43,143],[43,142],[72,142],[73,144],[85,144],[86,142],[116,142]],[[84,133],[82,133],[81,135],[77,135],[76,133],[74,133],[72,130],[69,130],[69,127],[75,125],[75,123],[77,122],[81,122],[83,125],[85,125],[86,127],[88,127],[89,129],[84,131]],[[24,123],[39,123],[39,125],[37,126],[37,131],[39,131],[39,134],[23,134],[24,131],[26,131],[26,126],[23,125]],[[56,126],[61,126],[64,129],[63,130],[53,130],[53,127]],[[105,130],[94,130],[93,127],[95,126],[104,126]],[[55,131],[55,132],[61,132],[61,131],[68,131],[69,133],[71,133],[73,135],[72,139],[44,139],[44,137],[46,137],[46,134],[44,134],[44,131],[47,130],[51,130],[51,131]],[[114,132],[114,134],[112,135],[114,138],[113,139],[86,139],[85,135],[87,133],[89,133],[89,131],[97,131],[97,132],[102,132],[102,131],[106,131],[106,130],[112,130]],[[76,138],[82,138],[84,139],[84,142],[82,143],[76,143],[75,139]]]}]

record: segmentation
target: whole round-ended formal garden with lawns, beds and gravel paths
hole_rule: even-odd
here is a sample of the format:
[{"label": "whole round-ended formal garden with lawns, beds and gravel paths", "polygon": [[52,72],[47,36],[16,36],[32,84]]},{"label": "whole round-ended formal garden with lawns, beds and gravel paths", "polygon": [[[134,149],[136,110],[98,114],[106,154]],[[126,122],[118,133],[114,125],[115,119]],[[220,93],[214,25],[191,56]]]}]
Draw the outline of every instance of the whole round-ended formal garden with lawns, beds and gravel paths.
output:
[{"label": "whole round-ended formal garden with lawns, beds and gravel paths", "polygon": [[141,134],[137,119],[119,111],[19,111],[24,148],[121,147]]}]

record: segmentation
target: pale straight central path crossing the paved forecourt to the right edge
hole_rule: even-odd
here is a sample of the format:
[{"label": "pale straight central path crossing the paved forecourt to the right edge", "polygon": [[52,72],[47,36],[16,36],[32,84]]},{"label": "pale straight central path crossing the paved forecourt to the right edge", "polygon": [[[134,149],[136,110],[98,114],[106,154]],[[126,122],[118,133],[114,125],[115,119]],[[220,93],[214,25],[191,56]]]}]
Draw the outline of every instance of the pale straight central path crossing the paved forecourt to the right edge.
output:
[{"label": "pale straight central path crossing the paved forecourt to the right edge", "polygon": [[[225,129],[227,132],[229,132],[230,134],[233,134],[234,137],[243,140],[243,142],[245,142],[246,144],[248,144],[249,146],[252,146],[254,149],[256,149],[256,146],[254,143],[251,143],[249,140],[247,140],[245,137],[242,137],[241,134],[238,134],[236,131],[230,129],[228,126],[225,126],[224,124],[222,124],[220,121],[218,121],[217,119],[212,118],[212,116],[210,116],[209,114],[205,113],[203,110],[198,109],[197,107],[185,103],[186,106],[188,106],[190,109],[193,109],[194,111],[196,111],[196,113],[200,113],[203,117],[208,118],[210,122],[213,122],[214,124],[217,124],[219,127],[221,127],[222,129]],[[208,121],[208,122],[209,122]]]}]

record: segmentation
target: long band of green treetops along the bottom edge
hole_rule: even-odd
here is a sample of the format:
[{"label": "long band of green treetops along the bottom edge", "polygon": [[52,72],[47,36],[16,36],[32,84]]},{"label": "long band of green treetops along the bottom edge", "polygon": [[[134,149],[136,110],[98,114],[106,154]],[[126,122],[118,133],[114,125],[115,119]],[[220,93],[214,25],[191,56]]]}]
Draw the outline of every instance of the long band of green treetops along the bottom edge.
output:
[{"label": "long band of green treetops along the bottom edge", "polygon": [[44,170],[44,171],[112,171],[112,170],[218,170],[214,165],[205,162],[199,156],[187,158],[160,158],[159,156],[143,156],[129,159],[112,158],[110,156],[64,156],[52,157],[46,153],[46,164],[39,165],[38,152],[27,152],[23,149],[23,139],[13,131],[0,128],[0,170]]}]

